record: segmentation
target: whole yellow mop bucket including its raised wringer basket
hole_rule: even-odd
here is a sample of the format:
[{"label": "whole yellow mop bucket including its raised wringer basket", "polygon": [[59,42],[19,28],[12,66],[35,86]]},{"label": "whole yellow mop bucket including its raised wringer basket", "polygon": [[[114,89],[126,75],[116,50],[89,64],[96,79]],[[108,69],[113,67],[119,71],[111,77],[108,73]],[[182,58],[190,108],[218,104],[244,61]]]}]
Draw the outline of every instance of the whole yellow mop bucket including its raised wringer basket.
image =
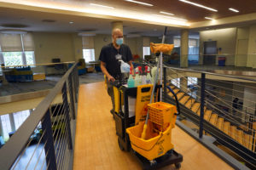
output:
[{"label": "whole yellow mop bucket including its raised wringer basket", "polygon": [[[140,122],[137,126],[127,128],[126,132],[129,134],[132,149],[151,161],[165,155],[168,150],[172,150],[172,128],[175,125],[175,113],[177,111],[175,105],[164,102],[148,104],[148,110],[149,121],[146,139],[141,138],[144,122]],[[158,133],[155,133],[155,131]]]}]

